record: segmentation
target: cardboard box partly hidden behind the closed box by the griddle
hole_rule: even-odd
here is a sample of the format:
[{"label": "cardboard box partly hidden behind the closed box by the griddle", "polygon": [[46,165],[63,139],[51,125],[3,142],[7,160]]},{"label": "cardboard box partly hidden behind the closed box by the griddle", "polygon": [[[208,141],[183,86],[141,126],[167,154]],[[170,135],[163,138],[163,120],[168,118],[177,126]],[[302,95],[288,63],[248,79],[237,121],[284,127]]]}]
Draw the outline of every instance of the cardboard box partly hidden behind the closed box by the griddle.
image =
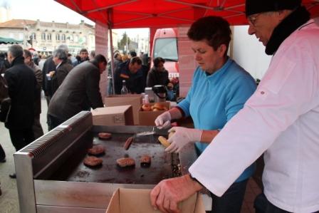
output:
[{"label": "cardboard box partly hidden behind the closed box by the griddle", "polygon": [[105,106],[132,105],[134,125],[139,125],[138,111],[142,103],[142,95],[109,95],[104,98]]}]

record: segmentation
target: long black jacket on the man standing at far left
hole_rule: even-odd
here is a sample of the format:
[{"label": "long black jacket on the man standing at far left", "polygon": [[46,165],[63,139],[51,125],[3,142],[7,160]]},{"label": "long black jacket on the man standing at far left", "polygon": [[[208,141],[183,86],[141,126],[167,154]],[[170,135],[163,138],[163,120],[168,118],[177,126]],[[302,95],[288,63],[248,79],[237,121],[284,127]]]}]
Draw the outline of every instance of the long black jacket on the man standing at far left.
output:
[{"label": "long black jacket on the man standing at far left", "polygon": [[26,66],[23,57],[15,58],[11,68],[6,70],[4,78],[8,83],[11,111],[6,128],[31,128],[34,119],[34,102],[36,98],[36,76]]}]

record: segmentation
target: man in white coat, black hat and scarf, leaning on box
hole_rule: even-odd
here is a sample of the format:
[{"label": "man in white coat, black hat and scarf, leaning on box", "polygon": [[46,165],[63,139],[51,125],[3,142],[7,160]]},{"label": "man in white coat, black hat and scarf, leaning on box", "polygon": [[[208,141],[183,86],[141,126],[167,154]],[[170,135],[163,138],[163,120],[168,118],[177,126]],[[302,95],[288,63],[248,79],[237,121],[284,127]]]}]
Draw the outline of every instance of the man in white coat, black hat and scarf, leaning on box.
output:
[{"label": "man in white coat, black hat and scarf, leaning on box", "polygon": [[264,153],[256,212],[319,211],[319,26],[298,0],[246,0],[246,16],[249,34],[273,56],[269,68],[189,174],[152,189],[155,208],[177,212],[203,187],[221,196]]}]

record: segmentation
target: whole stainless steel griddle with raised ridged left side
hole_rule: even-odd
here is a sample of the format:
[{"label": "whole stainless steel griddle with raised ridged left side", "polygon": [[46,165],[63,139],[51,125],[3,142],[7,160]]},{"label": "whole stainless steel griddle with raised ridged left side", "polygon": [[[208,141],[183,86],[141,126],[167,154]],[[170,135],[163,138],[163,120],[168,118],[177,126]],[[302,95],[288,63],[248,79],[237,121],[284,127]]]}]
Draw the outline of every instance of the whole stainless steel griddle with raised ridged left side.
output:
[{"label": "whole stainless steel griddle with raised ridged left side", "polygon": [[[196,159],[194,145],[186,146],[179,155],[165,153],[157,137],[167,137],[167,131],[137,137],[124,150],[127,137],[152,128],[93,125],[92,114],[83,111],[39,137],[14,153],[20,212],[105,212],[118,188],[152,189],[164,178],[186,174]],[[113,133],[112,139],[99,140],[97,135],[103,132]],[[93,144],[106,148],[98,168],[83,165]],[[150,167],[140,166],[138,160],[144,154],[152,155]],[[126,155],[135,158],[135,168],[117,167],[117,157]]]}]

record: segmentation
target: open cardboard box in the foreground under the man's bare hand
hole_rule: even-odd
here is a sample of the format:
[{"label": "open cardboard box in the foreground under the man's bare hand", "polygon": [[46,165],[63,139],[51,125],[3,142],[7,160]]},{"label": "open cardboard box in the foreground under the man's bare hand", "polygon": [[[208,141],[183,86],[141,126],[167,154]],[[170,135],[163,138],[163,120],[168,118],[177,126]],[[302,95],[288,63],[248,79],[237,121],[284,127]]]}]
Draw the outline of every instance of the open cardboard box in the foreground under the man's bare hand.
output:
[{"label": "open cardboard box in the foreground under the man's bare hand", "polygon": [[[117,189],[108,204],[106,213],[159,213],[155,211],[150,201],[150,189]],[[179,204],[182,213],[205,213],[204,204],[200,194]]]}]

